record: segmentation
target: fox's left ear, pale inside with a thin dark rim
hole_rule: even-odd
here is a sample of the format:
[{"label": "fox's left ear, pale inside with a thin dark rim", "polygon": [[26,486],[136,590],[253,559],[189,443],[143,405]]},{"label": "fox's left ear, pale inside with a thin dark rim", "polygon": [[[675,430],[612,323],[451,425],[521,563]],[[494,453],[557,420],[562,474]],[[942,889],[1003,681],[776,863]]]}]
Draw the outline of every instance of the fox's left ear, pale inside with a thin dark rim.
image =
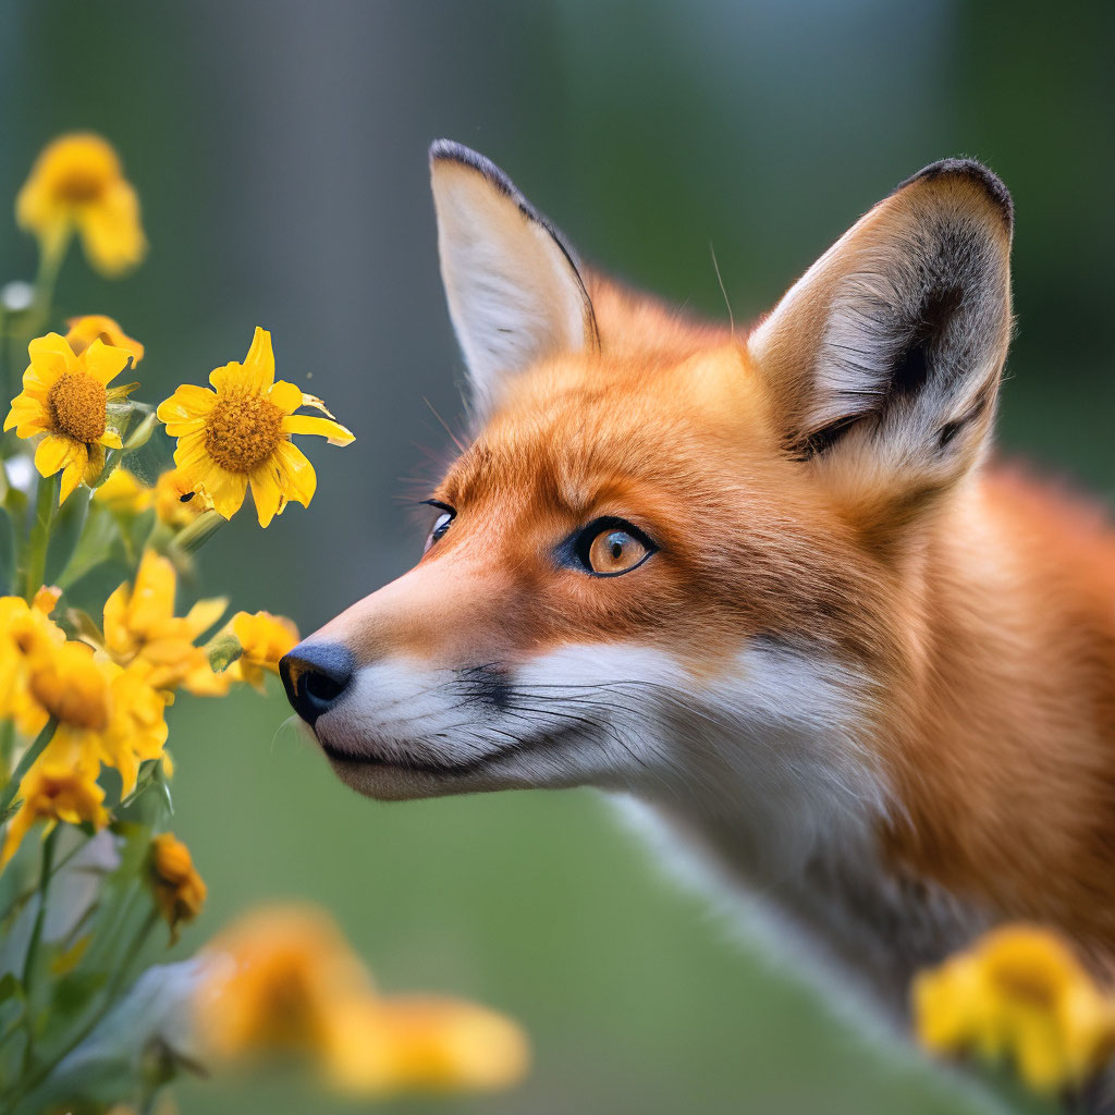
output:
[{"label": "fox's left ear, pale inside with a thin dark rim", "polygon": [[445,297],[483,416],[514,372],[595,348],[597,323],[573,253],[494,163],[448,139],[429,162]]}]

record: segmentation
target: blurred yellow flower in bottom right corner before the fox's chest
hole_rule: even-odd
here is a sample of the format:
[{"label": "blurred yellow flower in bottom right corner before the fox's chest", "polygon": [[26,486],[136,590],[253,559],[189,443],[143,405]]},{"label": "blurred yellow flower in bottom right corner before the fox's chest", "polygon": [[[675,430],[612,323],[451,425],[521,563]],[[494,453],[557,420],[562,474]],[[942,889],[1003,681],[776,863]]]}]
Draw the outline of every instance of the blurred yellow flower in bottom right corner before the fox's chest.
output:
[{"label": "blurred yellow flower in bottom right corner before the fox's chest", "polygon": [[1057,934],[1008,927],[918,976],[914,1024],[934,1053],[1011,1060],[1032,1090],[1078,1087],[1115,1053],[1115,1001]]}]

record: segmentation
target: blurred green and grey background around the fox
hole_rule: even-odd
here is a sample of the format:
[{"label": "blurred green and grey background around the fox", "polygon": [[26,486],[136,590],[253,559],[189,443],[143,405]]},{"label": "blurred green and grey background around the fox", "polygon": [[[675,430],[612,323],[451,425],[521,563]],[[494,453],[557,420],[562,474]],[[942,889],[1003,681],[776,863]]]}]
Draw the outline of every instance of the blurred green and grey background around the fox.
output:
[{"label": "blurred green and grey background around the fox", "polygon": [[[274,333],[279,371],[358,434],[210,589],[309,631],[399,574],[401,496],[462,413],[426,147],[501,163],[582,254],[690,309],[767,308],[933,159],[1015,195],[1018,333],[1001,446],[1115,495],[1115,7],[1006,0],[6,0],[0,197],[56,133],[103,132],[138,186],[147,263],[76,258],[59,302],[147,343],[145,397]],[[0,279],[32,243],[0,221]],[[313,449],[311,448],[311,453]],[[323,903],[389,989],[468,995],[531,1030],[495,1098],[387,1111],[673,1115],[990,1111],[859,1028],[795,962],[665,882],[589,792],[385,806],[336,783],[278,687],[174,711],[175,826],[211,888],[180,952],[277,895]],[[350,1111],[298,1079],[191,1083],[185,1115]]]}]

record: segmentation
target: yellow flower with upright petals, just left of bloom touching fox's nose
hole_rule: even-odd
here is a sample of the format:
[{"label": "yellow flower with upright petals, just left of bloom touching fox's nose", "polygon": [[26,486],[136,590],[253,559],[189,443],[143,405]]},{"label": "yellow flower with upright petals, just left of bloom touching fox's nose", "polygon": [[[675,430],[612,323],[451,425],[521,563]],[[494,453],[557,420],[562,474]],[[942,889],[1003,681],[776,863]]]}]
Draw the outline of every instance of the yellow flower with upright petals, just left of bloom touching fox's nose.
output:
[{"label": "yellow flower with upright petals, just left of bloom touching fox's nose", "polygon": [[226,601],[200,600],[185,615],[174,614],[174,565],[153,550],[144,552],[135,583],[126,581],[105,601],[105,650],[122,666],[136,660],[151,669],[157,689],[182,686],[194,694],[223,694],[229,680],[214,673],[194,640],[221,618]]}]

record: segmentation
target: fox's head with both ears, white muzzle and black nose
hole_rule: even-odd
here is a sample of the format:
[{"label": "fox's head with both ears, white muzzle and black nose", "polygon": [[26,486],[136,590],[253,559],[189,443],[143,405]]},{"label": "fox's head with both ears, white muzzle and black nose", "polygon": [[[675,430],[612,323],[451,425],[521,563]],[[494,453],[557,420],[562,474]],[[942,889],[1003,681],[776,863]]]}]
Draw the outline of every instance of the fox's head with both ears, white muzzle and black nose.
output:
[{"label": "fox's head with both ears, white muzzle and black nose", "polygon": [[903,585],[1006,358],[1002,184],[927,167],[743,336],[582,269],[481,155],[430,166],[473,436],[417,565],[283,659],[337,774],[593,784],[798,834],[883,807]]}]

